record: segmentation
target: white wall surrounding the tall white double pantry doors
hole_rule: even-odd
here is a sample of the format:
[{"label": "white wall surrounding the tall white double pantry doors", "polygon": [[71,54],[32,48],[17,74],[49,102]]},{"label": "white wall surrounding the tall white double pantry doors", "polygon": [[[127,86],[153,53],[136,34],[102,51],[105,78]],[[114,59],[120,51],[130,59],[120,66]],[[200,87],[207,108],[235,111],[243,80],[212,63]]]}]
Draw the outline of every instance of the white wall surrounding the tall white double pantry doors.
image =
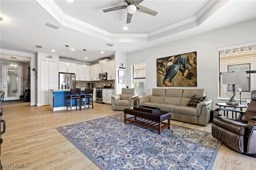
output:
[{"label": "white wall surrounding the tall white double pantry doors", "polygon": [[[51,55],[52,59],[46,58],[46,55]],[[36,59],[37,59],[37,96],[36,96],[36,105],[42,106],[41,104],[41,61],[55,61],[55,89],[58,89],[58,81],[59,81],[59,56],[53,55],[53,54],[47,54],[47,53],[36,53]],[[33,71],[34,72],[34,71]],[[50,73],[49,73],[50,74]]]}]

